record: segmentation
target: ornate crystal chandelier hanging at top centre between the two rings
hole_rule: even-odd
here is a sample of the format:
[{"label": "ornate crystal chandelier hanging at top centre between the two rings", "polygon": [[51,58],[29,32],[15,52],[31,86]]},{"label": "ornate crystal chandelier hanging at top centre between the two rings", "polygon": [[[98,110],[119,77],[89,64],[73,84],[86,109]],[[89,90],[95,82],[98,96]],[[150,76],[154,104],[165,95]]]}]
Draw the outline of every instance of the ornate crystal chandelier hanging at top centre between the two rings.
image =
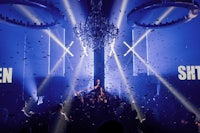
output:
[{"label": "ornate crystal chandelier hanging at top centre between the two rings", "polygon": [[77,37],[80,37],[83,45],[92,49],[101,49],[111,44],[117,37],[119,29],[109,23],[109,19],[102,14],[102,0],[90,1],[91,9],[85,22],[74,27]]}]

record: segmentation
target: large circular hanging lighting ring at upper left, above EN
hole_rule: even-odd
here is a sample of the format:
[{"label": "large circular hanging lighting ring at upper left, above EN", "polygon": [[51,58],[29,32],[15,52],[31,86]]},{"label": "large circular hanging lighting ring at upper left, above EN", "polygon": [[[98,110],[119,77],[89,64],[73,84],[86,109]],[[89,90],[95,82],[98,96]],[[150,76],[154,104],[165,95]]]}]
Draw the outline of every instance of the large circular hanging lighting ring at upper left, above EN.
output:
[{"label": "large circular hanging lighting ring at upper left, above EN", "polygon": [[54,4],[39,0],[1,0],[0,19],[29,28],[49,28],[63,19]]}]

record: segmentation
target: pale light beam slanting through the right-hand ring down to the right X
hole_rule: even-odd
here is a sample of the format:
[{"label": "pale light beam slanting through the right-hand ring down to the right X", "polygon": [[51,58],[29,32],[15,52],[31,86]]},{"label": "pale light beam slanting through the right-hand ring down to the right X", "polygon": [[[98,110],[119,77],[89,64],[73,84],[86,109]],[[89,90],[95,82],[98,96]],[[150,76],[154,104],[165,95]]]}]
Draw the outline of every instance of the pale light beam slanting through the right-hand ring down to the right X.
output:
[{"label": "pale light beam slanting through the right-hand ring down to the right X", "polygon": [[[159,24],[164,18],[166,18],[175,7],[169,7],[167,11],[165,11],[159,18],[158,21],[155,22],[155,24]],[[128,49],[128,51],[124,54],[126,56],[129,52],[133,51],[134,47],[136,47],[150,32],[152,32],[152,29],[147,30],[136,42],[135,44]]]}]

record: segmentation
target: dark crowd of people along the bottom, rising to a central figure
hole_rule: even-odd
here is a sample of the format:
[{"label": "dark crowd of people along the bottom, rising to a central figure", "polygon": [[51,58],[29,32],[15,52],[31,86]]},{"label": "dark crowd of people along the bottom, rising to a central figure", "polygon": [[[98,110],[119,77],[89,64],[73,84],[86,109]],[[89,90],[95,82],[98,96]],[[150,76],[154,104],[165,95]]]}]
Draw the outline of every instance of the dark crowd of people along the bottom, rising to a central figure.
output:
[{"label": "dark crowd of people along the bottom, rising to a central figure", "polygon": [[77,93],[70,107],[62,102],[32,112],[24,106],[11,121],[7,120],[6,110],[0,115],[1,133],[198,133],[196,116],[191,112],[173,126],[163,122],[162,116],[156,118],[150,109],[145,119],[139,119],[132,103],[106,92],[100,80],[89,93]]}]

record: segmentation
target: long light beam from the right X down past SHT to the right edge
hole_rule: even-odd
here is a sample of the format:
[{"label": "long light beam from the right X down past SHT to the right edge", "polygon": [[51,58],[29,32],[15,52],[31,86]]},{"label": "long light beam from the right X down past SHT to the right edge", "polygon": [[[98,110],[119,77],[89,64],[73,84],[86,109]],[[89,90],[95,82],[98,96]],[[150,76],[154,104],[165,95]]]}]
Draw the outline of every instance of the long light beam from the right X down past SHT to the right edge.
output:
[{"label": "long light beam from the right X down past SHT to the right edge", "polygon": [[161,83],[184,105],[189,111],[196,114],[197,117],[200,117],[200,112],[196,109],[192,103],[190,103],[183,95],[181,95],[170,83],[168,83],[161,75],[159,75],[151,65],[149,65],[142,57],[136,52],[133,51],[135,56],[147,67],[149,70],[161,81]]}]

